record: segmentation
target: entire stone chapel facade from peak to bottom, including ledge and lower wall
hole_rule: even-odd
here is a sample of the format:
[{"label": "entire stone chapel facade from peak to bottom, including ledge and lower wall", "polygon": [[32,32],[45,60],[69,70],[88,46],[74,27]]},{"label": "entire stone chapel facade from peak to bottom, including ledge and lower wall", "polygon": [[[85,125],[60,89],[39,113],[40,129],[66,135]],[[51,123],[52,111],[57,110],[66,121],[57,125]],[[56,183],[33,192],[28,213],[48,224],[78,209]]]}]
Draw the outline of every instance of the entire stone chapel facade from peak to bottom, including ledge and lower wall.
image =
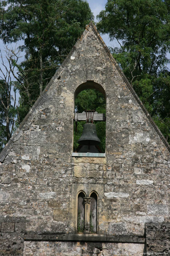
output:
[{"label": "entire stone chapel facade from peak to bottom, including ledge and lower wall", "polygon": [[[106,97],[105,153],[73,152],[74,99],[89,88]],[[170,252],[169,144],[92,23],[1,152],[0,173],[0,255]]]}]

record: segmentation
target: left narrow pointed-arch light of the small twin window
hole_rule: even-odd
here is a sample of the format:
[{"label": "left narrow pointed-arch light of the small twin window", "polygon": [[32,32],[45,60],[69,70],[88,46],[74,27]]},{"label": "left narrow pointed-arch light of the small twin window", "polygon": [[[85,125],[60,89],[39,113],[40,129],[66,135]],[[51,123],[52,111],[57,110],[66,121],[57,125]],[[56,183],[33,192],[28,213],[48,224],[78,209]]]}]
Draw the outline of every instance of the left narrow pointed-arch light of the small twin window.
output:
[{"label": "left narrow pointed-arch light of the small twin window", "polygon": [[84,232],[84,220],[85,220],[84,197],[86,197],[86,195],[83,192],[80,192],[78,194],[78,211],[77,211],[77,231],[78,231],[78,233]]}]

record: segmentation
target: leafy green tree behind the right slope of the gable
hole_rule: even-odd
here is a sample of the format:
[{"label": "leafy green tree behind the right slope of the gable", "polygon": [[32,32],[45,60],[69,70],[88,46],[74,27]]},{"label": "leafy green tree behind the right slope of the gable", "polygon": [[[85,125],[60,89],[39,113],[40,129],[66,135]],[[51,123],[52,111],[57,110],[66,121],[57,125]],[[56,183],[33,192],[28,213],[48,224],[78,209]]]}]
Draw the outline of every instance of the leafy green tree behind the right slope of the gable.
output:
[{"label": "leafy green tree behind the right slope of the gable", "polygon": [[170,1],[108,0],[98,19],[98,30],[118,41],[113,56],[170,142]]}]

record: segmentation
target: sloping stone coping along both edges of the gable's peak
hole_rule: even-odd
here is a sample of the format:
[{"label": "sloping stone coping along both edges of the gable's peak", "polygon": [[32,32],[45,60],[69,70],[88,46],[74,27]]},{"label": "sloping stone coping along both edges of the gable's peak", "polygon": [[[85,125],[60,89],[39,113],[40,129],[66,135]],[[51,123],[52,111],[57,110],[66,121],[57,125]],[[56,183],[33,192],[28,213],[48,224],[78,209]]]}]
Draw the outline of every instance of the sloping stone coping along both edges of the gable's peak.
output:
[{"label": "sloping stone coping along both edges of the gable's peak", "polygon": [[[119,65],[116,63],[116,61],[114,60],[114,58],[112,57],[110,51],[108,50],[106,44],[104,43],[103,39],[100,37],[98,31],[96,30],[95,25],[91,22],[88,26],[86,26],[86,29],[84,31],[84,33],[82,34],[81,38],[78,39],[78,41],[76,42],[76,44],[74,45],[74,47],[72,48],[71,52],[68,54],[68,56],[66,57],[66,59],[63,61],[62,65],[60,66],[60,68],[58,69],[58,71],[55,73],[55,75],[53,76],[53,78],[50,80],[50,82],[48,83],[48,85],[46,86],[46,88],[44,89],[42,95],[37,99],[37,101],[35,102],[35,104],[32,106],[32,108],[29,110],[28,114],[25,116],[24,120],[22,121],[22,123],[20,124],[19,128],[17,128],[17,130],[13,133],[11,139],[8,141],[8,143],[6,144],[6,146],[4,147],[4,149],[1,151],[0,153],[0,161],[3,162],[5,157],[7,156],[7,154],[10,152],[12,145],[14,142],[16,142],[19,138],[20,135],[22,134],[22,129],[23,126],[26,124],[27,121],[32,120],[32,113],[34,112],[34,110],[39,106],[40,102],[42,102],[43,100],[46,101],[46,94],[48,92],[48,90],[50,89],[50,87],[52,86],[52,84],[54,83],[54,81],[56,79],[60,79],[60,76],[62,75],[63,69],[64,67],[68,64],[68,62],[70,61],[71,57],[74,55],[74,53],[76,52],[76,50],[80,47],[81,48],[81,42],[87,37],[89,31],[92,31],[92,33],[94,33],[95,37],[98,39],[98,41],[100,42],[102,48],[104,49],[104,51],[107,53],[108,58],[110,59],[110,61],[114,64],[114,67],[116,68],[117,72],[119,73],[119,75],[122,77],[124,83],[126,83],[126,86],[129,88],[131,94],[133,95],[133,97],[136,99],[136,101],[138,102],[138,104],[140,105],[140,107],[142,108],[143,112],[145,113],[147,119],[149,120],[149,122],[151,123],[151,125],[153,126],[153,128],[155,129],[155,131],[157,132],[157,134],[159,135],[159,137],[161,138],[162,142],[164,143],[164,145],[166,146],[166,148],[170,151],[170,146],[167,143],[166,139],[164,138],[164,136],[162,135],[161,131],[159,130],[159,128],[157,127],[157,125],[154,123],[153,119],[151,118],[150,114],[147,112],[145,106],[143,105],[143,103],[141,102],[141,100],[139,99],[139,97],[137,96],[137,94],[135,93],[133,87],[131,86],[131,84],[129,83],[129,81],[127,80],[126,76],[123,74],[123,72],[121,71]],[[89,46],[90,47],[90,46]],[[92,47],[92,45],[91,45]],[[95,46],[94,46],[95,47]],[[88,57],[88,56],[87,56]],[[74,58],[74,57],[73,57]],[[87,79],[87,80],[91,80],[91,79]],[[29,124],[29,122],[28,122]],[[27,125],[28,125],[27,124]]]}]

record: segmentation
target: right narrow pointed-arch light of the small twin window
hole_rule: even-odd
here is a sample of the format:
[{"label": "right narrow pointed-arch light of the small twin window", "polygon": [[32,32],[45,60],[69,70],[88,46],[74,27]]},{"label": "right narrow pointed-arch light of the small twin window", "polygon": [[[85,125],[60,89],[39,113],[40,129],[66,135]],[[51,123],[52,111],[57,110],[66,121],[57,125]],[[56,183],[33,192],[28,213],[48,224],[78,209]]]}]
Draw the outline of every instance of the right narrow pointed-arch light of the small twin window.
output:
[{"label": "right narrow pointed-arch light of the small twin window", "polygon": [[90,197],[90,233],[97,233],[98,196],[95,192],[92,192]]}]

